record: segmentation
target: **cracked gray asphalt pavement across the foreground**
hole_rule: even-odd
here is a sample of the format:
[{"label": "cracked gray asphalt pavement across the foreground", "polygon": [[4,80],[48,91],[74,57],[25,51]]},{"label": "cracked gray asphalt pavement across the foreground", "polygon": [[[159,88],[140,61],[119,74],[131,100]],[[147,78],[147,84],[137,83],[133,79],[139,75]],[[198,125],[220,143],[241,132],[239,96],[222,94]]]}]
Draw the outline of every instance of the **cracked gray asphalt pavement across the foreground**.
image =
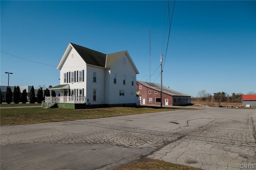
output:
[{"label": "cracked gray asphalt pavement across the foreground", "polygon": [[256,164],[255,127],[256,109],[228,108],[2,126],[0,168],[112,169],[148,157],[240,169]]}]

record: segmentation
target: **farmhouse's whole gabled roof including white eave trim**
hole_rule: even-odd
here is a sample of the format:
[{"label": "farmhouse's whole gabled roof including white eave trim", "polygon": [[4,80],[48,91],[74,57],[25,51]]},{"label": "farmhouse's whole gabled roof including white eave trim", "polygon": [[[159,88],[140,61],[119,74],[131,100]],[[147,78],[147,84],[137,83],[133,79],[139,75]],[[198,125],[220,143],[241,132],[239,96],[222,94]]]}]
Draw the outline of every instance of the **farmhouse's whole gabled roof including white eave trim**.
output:
[{"label": "farmhouse's whole gabled roof including white eave trim", "polygon": [[[124,53],[128,54],[128,51],[120,51],[116,53],[104,54],[104,53],[83,47],[81,45],[69,43],[64,54],[62,55],[62,58],[60,59],[60,62],[58,63],[57,69],[61,69],[62,65],[66,60],[66,57],[68,56],[68,53],[72,48],[74,48],[78,52],[78,54],[82,57],[82,59],[86,64],[95,65],[95,66],[104,67],[104,68],[112,67],[112,65],[114,65],[114,63],[116,63],[116,61],[122,55],[124,55]],[[136,74],[138,74],[139,73],[138,69],[134,65],[130,55],[128,54],[127,56]]]}]

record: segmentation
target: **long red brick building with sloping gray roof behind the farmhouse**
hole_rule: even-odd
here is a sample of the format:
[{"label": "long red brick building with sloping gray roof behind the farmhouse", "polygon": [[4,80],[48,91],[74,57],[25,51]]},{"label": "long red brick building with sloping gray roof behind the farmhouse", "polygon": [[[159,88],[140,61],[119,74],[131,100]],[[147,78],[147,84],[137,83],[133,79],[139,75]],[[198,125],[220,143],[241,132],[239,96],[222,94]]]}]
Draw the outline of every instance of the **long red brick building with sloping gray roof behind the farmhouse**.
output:
[{"label": "long red brick building with sloping gray roof behind the farmhouse", "polygon": [[[136,91],[139,96],[140,105],[161,105],[160,84],[136,81]],[[190,97],[189,95],[162,86],[163,106],[186,106],[190,104]]]}]

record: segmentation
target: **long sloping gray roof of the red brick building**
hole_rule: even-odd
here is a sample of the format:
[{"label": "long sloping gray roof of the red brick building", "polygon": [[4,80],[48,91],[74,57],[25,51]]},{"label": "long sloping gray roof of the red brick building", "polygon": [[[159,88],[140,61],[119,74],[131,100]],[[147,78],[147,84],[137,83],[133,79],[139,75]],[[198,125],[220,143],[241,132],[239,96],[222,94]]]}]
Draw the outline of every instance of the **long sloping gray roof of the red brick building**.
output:
[{"label": "long sloping gray roof of the red brick building", "polygon": [[[150,89],[156,90],[156,91],[161,91],[161,84],[158,83],[148,83],[145,81],[137,81],[138,83],[144,85],[145,87],[148,87]],[[168,87],[162,86],[162,92],[166,93],[168,95],[171,96],[187,96],[187,97],[191,97],[190,95],[186,95],[184,93],[180,93],[178,91],[169,89]]]}]

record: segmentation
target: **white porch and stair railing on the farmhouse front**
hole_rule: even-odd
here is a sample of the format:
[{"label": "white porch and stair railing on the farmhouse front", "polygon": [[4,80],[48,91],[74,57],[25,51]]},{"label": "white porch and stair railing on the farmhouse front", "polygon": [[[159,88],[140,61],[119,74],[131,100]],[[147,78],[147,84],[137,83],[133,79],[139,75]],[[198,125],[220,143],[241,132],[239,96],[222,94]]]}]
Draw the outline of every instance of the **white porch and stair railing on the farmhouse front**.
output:
[{"label": "white porch and stair railing on the farmhouse front", "polygon": [[57,96],[57,97],[45,97],[42,102],[42,108],[49,108],[55,103],[86,103],[85,96]]}]

